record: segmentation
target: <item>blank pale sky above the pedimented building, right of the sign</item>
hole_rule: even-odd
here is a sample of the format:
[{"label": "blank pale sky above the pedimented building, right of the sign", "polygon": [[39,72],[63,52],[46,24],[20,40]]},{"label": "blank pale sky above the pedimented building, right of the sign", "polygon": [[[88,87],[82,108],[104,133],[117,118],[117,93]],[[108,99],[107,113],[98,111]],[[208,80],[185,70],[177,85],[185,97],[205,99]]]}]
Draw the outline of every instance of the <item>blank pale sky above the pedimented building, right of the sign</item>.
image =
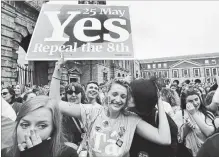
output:
[{"label": "blank pale sky above the pedimented building, right of the sign", "polygon": [[136,59],[219,53],[219,1],[107,0],[107,5],[129,6]]}]

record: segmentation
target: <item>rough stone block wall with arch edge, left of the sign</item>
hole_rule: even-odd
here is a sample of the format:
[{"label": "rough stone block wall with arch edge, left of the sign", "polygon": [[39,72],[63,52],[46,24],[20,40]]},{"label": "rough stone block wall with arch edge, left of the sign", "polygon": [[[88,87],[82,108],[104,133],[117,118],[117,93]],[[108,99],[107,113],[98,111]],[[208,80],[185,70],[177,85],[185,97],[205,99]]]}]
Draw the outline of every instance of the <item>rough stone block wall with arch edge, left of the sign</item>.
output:
[{"label": "rough stone block wall with arch edge, left of the sign", "polygon": [[19,46],[27,50],[42,3],[1,1],[1,79],[6,86],[16,84],[16,51]]}]

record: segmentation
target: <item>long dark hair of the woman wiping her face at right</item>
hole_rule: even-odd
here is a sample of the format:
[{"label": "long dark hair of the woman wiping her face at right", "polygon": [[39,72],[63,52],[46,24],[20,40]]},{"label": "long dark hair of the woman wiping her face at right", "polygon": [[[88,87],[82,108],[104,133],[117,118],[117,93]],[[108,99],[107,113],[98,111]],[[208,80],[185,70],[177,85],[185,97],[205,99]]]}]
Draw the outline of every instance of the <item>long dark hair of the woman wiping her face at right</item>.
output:
[{"label": "long dark hair of the woman wiping her face at right", "polygon": [[199,111],[202,112],[205,115],[205,121],[206,118],[210,118],[211,120],[213,120],[213,117],[210,113],[210,111],[207,110],[207,108],[205,107],[205,104],[202,100],[202,98],[200,97],[200,95],[197,93],[197,91],[195,91],[193,88],[190,88],[188,90],[185,90],[184,92],[182,92],[181,94],[181,109],[182,111],[186,109],[186,98],[190,95],[197,95],[199,100],[200,100],[200,107],[199,107]]}]

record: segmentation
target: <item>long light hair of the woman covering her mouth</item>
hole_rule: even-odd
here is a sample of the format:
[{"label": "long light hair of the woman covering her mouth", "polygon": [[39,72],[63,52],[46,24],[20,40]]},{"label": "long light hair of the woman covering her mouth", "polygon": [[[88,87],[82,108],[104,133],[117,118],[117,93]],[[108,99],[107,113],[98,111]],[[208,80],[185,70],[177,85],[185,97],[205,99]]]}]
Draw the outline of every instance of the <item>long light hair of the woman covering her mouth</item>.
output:
[{"label": "long light hair of the woman covering her mouth", "polygon": [[57,101],[50,99],[48,96],[40,95],[26,101],[20,108],[17,119],[16,127],[13,136],[13,145],[7,151],[12,157],[19,157],[18,142],[17,142],[17,127],[20,120],[28,113],[33,112],[39,108],[48,108],[52,113],[53,131],[51,133],[51,153],[52,156],[59,156],[66,148],[64,133],[62,131],[62,115],[58,109]]}]

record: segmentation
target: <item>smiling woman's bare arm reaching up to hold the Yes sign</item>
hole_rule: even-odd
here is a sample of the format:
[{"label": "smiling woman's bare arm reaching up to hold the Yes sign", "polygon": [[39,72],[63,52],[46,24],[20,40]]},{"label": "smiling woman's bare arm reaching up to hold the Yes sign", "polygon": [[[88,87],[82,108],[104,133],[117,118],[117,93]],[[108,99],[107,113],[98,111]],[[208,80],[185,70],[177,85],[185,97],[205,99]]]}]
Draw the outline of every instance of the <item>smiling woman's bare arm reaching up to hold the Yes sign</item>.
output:
[{"label": "smiling woman's bare arm reaching up to hold the Yes sign", "polygon": [[64,58],[56,62],[55,69],[52,75],[52,80],[50,84],[49,97],[56,99],[59,104],[59,109],[63,114],[71,117],[81,118],[81,108],[80,105],[75,105],[70,102],[64,102],[60,97],[60,81],[61,81],[61,69],[64,64]]}]

